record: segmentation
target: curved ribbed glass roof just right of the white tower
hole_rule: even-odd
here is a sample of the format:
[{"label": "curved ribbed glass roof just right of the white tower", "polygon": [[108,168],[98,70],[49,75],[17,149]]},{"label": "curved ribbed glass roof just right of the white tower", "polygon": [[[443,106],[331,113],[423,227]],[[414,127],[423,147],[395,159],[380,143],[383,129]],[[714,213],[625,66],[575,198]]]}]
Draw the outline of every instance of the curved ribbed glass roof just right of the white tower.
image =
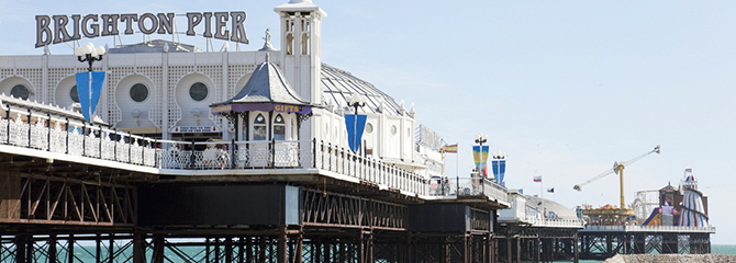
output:
[{"label": "curved ribbed glass roof just right of the white tower", "polygon": [[327,105],[347,107],[345,99],[348,95],[355,96],[357,94],[366,98],[366,105],[358,108],[360,113],[401,115],[402,107],[393,98],[348,71],[322,64],[321,83],[323,100]]}]

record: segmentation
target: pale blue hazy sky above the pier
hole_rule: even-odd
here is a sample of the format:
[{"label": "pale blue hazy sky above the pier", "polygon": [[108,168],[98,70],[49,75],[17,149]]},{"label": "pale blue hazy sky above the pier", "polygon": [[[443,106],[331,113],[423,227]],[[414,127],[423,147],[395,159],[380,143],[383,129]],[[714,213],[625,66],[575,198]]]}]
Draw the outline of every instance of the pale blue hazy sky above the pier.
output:
[{"label": "pale blue hazy sky above the pier", "polygon": [[[0,0],[0,55],[40,55],[35,15],[245,11],[249,45],[279,1]],[[459,144],[446,175],[467,176],[473,136],[506,153],[506,185],[575,207],[618,204],[618,178],[572,186],[661,146],[625,168],[624,194],[677,187],[692,169],[709,197],[712,242],[736,244],[728,201],[736,187],[734,1],[336,1],[313,0],[322,61],[413,103],[416,122]],[[182,18],[183,20],[183,18]],[[183,28],[180,28],[183,31]],[[202,37],[182,42],[205,49]],[[170,35],[153,38],[171,39]],[[122,36],[134,44],[141,35]],[[86,41],[82,41],[82,44]],[[113,46],[112,37],[91,39]],[[212,41],[215,49],[224,44]],[[231,50],[236,48],[230,43]],[[69,46],[52,54],[73,54]],[[456,160],[458,160],[456,162]]]}]

